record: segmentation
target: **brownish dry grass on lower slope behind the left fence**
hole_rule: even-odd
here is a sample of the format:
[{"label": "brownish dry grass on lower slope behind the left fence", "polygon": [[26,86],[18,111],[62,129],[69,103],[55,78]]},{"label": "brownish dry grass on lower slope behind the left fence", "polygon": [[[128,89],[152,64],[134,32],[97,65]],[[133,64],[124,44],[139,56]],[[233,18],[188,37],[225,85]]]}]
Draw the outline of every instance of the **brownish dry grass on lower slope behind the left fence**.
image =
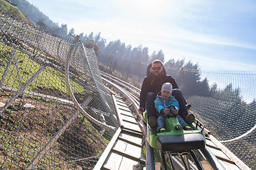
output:
[{"label": "brownish dry grass on lower slope behind the left fence", "polygon": [[[33,103],[31,99],[28,100],[30,100],[28,102]],[[56,110],[53,108],[56,108]],[[41,112],[43,114],[41,114]],[[11,159],[12,162],[16,164],[28,164],[35,155],[33,156],[27,153],[38,153],[50,138],[55,135],[55,132],[61,128],[61,125],[68,120],[73,112],[74,109],[71,106],[44,102],[37,103],[36,108],[27,111],[21,108],[16,111],[10,110],[8,113],[5,112],[4,115],[1,116],[0,123],[0,142],[1,146],[5,148],[1,149],[2,158],[6,157],[6,154],[9,153],[9,156],[11,156],[9,159]],[[29,116],[23,119],[21,123],[20,120],[24,114]],[[112,133],[109,133],[109,135],[112,135]],[[102,153],[102,149],[104,149],[109,142],[110,141],[106,140],[105,137],[102,137],[97,128],[92,126],[84,115],[80,114],[79,118],[77,118],[70,128],[66,130],[65,134],[60,137],[58,141],[59,144],[53,147],[51,152],[60,152],[60,154],[72,153],[71,156],[73,155],[73,157],[85,157],[85,155],[82,154],[83,151],[80,149],[86,148],[88,151],[93,150],[93,152],[95,152],[95,154],[91,153],[92,155],[97,155]],[[81,147],[76,147],[76,144],[79,144]],[[16,152],[10,152],[14,148],[16,148]],[[69,152],[66,152],[67,150],[69,150]],[[6,154],[3,155],[4,152]],[[81,156],[78,156],[79,154]],[[0,158],[0,162],[2,161],[3,159]],[[50,161],[51,159],[45,164],[52,164]],[[59,162],[64,162],[64,160],[59,160]],[[43,162],[41,166],[43,166]],[[4,164],[4,167],[6,167],[6,169],[12,169],[14,168],[14,164]]]}]

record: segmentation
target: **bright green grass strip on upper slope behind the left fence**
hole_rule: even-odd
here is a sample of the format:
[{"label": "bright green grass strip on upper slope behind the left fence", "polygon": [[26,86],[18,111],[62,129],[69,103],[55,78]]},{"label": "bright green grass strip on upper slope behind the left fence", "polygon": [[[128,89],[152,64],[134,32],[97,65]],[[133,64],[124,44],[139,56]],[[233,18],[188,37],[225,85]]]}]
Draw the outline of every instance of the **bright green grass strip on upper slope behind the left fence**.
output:
[{"label": "bright green grass strip on upper slope behind the left fence", "polygon": [[[3,75],[4,71],[7,67],[9,60],[11,59],[11,52],[13,49],[9,46],[4,45],[0,42],[0,51],[1,51],[1,67],[0,74]],[[21,84],[24,85],[30,79],[33,74],[35,74],[38,69],[41,67],[40,64],[37,64],[31,58],[16,50],[16,56],[18,61],[19,75],[21,77]],[[16,89],[20,88],[19,80],[18,80],[18,72],[16,69],[16,65],[14,62],[14,58],[11,62],[11,66],[9,67],[9,72],[6,76],[6,80],[4,81],[5,86],[12,86]],[[70,81],[70,86],[73,89],[73,93],[83,94],[85,95],[85,90],[82,86],[75,83],[74,81]],[[46,67],[46,69],[39,74],[39,76],[25,89],[26,91],[37,91],[40,89],[48,89],[52,91],[58,92],[58,96],[68,96],[67,86],[65,84],[65,75],[56,71],[52,67]]]}]

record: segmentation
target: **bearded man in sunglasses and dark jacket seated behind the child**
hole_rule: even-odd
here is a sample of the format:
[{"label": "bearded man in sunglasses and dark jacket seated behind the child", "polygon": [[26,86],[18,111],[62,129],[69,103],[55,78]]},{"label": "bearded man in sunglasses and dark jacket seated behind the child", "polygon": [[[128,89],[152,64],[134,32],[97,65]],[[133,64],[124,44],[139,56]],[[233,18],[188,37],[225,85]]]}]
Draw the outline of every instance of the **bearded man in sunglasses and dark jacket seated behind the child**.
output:
[{"label": "bearded man in sunglasses and dark jacket seated behind the child", "polygon": [[[152,72],[150,72],[152,69]],[[154,100],[156,99],[156,94],[161,91],[161,86],[169,82],[173,86],[174,90],[172,91],[172,96],[174,96],[178,105],[180,106],[180,110],[178,111],[178,115],[183,118],[189,125],[193,123],[195,120],[195,116],[192,114],[188,114],[186,108],[186,101],[181,94],[181,91],[178,89],[178,85],[173,77],[167,76],[164,64],[161,60],[154,60],[147,69],[147,75],[144,78],[142,84],[142,90],[139,97],[139,113],[143,113],[146,108],[148,123],[151,128],[156,128],[156,108],[154,108]]]}]

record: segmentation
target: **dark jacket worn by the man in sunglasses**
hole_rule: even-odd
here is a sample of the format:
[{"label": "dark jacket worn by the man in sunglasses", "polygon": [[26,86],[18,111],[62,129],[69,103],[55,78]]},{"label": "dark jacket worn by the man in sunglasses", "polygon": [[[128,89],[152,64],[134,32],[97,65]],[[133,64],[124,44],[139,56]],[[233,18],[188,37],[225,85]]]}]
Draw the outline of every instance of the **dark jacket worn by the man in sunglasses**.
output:
[{"label": "dark jacket worn by the man in sunglasses", "polygon": [[154,94],[158,94],[161,91],[161,86],[169,82],[173,86],[173,89],[178,89],[178,85],[176,84],[176,81],[173,77],[167,76],[166,71],[162,72],[161,77],[154,77],[152,73],[150,72],[151,64],[149,64],[149,67],[146,70],[146,77],[144,78],[143,84],[142,84],[142,90],[139,97],[139,107],[144,108],[146,106],[146,95],[149,92],[154,92]]}]

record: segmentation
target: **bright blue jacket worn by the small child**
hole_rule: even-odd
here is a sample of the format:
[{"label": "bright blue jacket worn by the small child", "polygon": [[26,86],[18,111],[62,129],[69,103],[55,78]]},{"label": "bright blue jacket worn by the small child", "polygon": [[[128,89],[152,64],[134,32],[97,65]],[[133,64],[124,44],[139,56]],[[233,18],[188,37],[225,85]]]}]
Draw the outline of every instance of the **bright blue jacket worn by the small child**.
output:
[{"label": "bright blue jacket worn by the small child", "polygon": [[[154,105],[156,108],[156,111],[158,113],[158,115],[160,115],[160,111],[163,108],[167,108],[167,106],[169,105],[174,105],[178,110],[179,110],[179,106],[178,106],[178,101],[176,100],[176,98],[174,98],[174,96],[170,96],[169,98],[164,99],[161,95],[161,93],[157,94],[156,96],[156,100],[154,101]],[[170,108],[170,113],[174,113],[172,110],[173,108]]]}]

